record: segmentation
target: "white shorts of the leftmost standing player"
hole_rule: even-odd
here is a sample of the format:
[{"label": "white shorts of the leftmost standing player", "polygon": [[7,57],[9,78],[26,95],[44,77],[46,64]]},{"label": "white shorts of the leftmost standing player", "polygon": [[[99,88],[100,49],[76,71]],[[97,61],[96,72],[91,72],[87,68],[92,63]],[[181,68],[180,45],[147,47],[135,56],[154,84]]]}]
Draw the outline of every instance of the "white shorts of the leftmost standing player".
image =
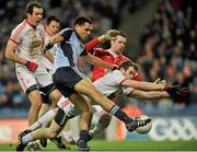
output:
[{"label": "white shorts of the leftmost standing player", "polygon": [[39,63],[37,69],[33,72],[25,66],[16,63],[15,71],[18,80],[24,92],[33,85],[45,87],[53,83],[51,75],[48,73],[43,63]]}]

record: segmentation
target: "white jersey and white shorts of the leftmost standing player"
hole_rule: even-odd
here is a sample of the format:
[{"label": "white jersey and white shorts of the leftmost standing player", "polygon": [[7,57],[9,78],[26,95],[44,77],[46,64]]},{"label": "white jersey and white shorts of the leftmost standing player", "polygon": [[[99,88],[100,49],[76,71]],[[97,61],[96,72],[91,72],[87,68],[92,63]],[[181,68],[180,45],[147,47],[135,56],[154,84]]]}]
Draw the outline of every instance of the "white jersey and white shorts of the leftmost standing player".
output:
[{"label": "white jersey and white shorts of the leftmost standing player", "polygon": [[35,71],[30,71],[26,66],[15,63],[18,80],[26,92],[31,86],[45,87],[53,83],[51,75],[43,63],[44,31],[40,25],[33,27],[27,20],[19,24],[11,33],[10,40],[18,44],[15,55],[27,61],[38,65]]}]

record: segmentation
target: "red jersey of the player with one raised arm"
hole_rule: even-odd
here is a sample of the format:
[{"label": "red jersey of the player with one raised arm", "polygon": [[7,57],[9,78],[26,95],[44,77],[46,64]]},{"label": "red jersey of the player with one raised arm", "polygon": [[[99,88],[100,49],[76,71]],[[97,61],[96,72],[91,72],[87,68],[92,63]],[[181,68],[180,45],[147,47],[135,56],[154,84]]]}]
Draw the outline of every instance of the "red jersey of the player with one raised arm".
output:
[{"label": "red jersey of the player with one raised arm", "polygon": [[[112,65],[119,66],[121,62],[130,60],[129,58],[125,57],[124,55],[116,55],[116,54],[112,52],[111,49],[94,48],[100,42],[97,38],[88,43],[85,45],[86,51],[89,51],[90,54],[92,54]],[[105,70],[106,70],[106,68],[94,66],[93,71],[92,71],[92,81],[94,82],[97,79],[104,77]],[[140,80],[139,75],[137,75],[137,77],[138,78],[135,80]]]}]

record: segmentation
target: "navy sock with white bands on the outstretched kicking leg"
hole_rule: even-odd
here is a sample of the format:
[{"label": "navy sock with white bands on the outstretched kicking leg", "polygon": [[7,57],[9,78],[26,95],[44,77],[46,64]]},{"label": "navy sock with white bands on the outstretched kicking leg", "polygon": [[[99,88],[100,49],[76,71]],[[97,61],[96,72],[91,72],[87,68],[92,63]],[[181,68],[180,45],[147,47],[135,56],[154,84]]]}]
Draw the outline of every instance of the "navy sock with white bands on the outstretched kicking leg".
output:
[{"label": "navy sock with white bands on the outstretched kicking leg", "polygon": [[114,115],[125,124],[131,124],[134,121],[134,118],[128,117],[117,105],[114,105],[111,108],[109,114]]}]

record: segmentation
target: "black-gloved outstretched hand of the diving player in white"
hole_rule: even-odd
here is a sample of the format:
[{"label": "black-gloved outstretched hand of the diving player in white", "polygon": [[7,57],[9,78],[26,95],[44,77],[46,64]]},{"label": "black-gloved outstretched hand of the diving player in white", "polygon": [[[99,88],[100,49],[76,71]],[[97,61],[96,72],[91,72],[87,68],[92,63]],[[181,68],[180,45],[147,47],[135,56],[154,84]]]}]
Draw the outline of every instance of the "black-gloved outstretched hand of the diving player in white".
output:
[{"label": "black-gloved outstretched hand of the diving player in white", "polygon": [[164,89],[172,98],[186,97],[189,94],[188,87],[182,87],[179,85],[167,86]]}]

